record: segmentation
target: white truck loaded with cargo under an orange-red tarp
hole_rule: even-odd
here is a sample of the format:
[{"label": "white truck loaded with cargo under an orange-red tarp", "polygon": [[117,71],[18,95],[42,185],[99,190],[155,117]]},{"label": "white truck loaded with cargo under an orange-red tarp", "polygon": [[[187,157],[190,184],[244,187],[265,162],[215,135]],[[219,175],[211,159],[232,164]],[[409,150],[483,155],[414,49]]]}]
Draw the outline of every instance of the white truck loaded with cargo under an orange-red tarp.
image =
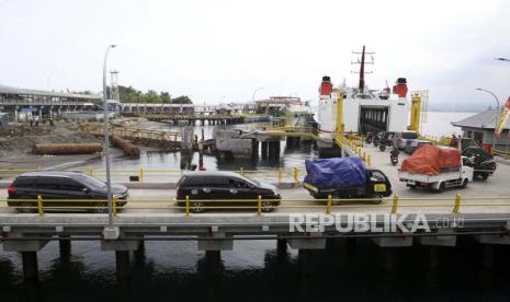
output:
[{"label": "white truck loaded with cargo under an orange-red tarp", "polygon": [[461,151],[453,148],[423,146],[403,161],[398,170],[400,182],[408,187],[427,187],[438,191],[450,187],[465,187],[473,181],[473,167]]}]

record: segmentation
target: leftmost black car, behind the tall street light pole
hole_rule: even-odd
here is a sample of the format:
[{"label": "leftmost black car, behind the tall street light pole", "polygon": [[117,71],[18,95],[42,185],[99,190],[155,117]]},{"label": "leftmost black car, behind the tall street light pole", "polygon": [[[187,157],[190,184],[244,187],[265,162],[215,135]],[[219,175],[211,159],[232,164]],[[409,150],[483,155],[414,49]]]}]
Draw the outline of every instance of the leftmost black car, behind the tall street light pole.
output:
[{"label": "leftmost black car, behind the tall street light pole", "polygon": [[[52,207],[52,210],[107,212],[106,184],[80,172],[44,171],[20,174],[9,186],[8,194],[9,207],[37,207],[35,199],[41,195],[43,207]],[[128,191],[125,186],[113,184],[112,194],[117,199],[118,207],[126,204]],[[58,209],[58,207],[63,208]],[[36,211],[35,208],[18,208],[18,210]]]}]

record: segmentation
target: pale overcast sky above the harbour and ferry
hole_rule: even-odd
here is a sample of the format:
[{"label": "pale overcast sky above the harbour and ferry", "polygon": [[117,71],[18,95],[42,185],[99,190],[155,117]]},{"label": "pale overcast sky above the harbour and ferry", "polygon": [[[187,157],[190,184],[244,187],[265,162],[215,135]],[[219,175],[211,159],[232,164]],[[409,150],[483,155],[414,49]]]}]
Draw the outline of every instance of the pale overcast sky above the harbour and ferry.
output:
[{"label": "pale overcast sky above the harbour and ferry", "polygon": [[0,0],[0,84],[92,90],[106,46],[120,83],[195,103],[269,95],[316,100],[321,76],[351,74],[352,50],[375,51],[371,89],[398,77],[446,109],[510,95],[510,1]]}]

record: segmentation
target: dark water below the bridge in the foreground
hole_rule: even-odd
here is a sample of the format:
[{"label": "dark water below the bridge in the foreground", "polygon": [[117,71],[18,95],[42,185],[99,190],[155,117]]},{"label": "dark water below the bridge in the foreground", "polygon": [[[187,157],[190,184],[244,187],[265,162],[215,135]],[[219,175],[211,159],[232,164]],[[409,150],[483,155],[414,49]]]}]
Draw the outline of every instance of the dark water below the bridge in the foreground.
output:
[{"label": "dark water below the bridge in the foreground", "polygon": [[[95,248],[73,248],[61,259],[57,248],[41,253],[39,282],[32,283],[20,279],[19,256],[4,253],[1,301],[506,300],[509,294],[509,247],[494,251],[487,266],[480,254],[489,252],[473,240],[435,252],[421,245],[388,249],[390,267],[382,266],[382,248],[369,240],[328,241],[326,249],[313,252],[305,279],[298,278],[295,252],[279,254],[274,241],[240,246],[212,266],[195,244],[148,243],[145,252],[132,253],[132,278],[123,282],[112,270],[112,253]],[[243,265],[252,252],[262,257],[260,264]],[[434,257],[438,263],[429,263]]]}]

